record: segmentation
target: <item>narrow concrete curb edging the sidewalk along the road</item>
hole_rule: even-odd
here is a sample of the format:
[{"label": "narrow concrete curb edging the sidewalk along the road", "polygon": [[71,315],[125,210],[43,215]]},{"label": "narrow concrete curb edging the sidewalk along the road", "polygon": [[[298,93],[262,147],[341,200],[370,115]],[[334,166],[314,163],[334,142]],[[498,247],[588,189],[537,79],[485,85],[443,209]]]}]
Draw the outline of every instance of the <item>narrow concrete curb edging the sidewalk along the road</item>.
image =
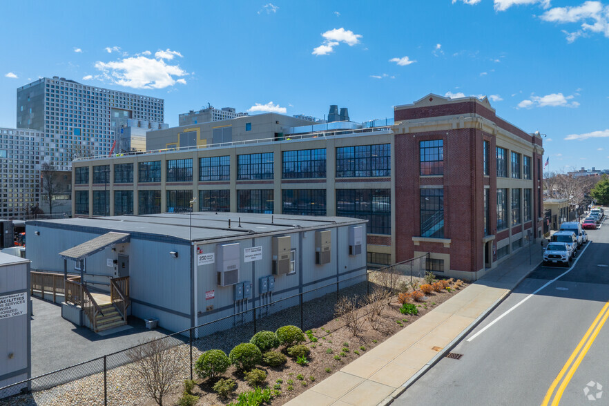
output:
[{"label": "narrow concrete curb edging the sidewalk along the road", "polygon": [[541,262],[539,262],[537,265],[534,265],[532,267],[532,269],[530,269],[527,273],[525,273],[517,282],[516,284],[514,284],[514,287],[512,287],[512,289],[509,289],[507,292],[505,292],[503,294],[503,296],[501,296],[501,298],[495,300],[495,302],[490,305],[490,307],[488,307],[480,316],[478,316],[478,318],[476,318],[476,320],[474,320],[472,322],[472,324],[470,324],[469,326],[467,326],[463,331],[461,331],[461,333],[458,334],[458,336],[456,336],[454,338],[454,340],[452,340],[451,342],[449,342],[446,347],[444,347],[443,349],[441,349],[441,351],[438,352],[438,354],[436,354],[436,356],[434,356],[434,358],[432,358],[431,360],[429,360],[429,363],[425,364],[421,369],[419,369],[416,374],[414,374],[413,376],[410,377],[409,380],[407,380],[404,385],[402,385],[401,387],[398,387],[398,389],[396,389],[394,392],[392,392],[392,394],[390,394],[389,396],[387,396],[387,398],[383,399],[380,403],[378,403],[377,406],[387,406],[387,405],[391,405],[394,400],[400,396],[401,394],[403,394],[406,389],[408,389],[411,385],[413,385],[418,378],[421,378],[421,376],[425,375],[425,373],[427,371],[429,371],[429,369],[431,369],[434,365],[436,365],[438,362],[440,362],[440,360],[442,358],[444,358],[446,356],[446,354],[448,354],[454,347],[456,347],[456,345],[461,342],[461,340],[463,340],[463,338],[465,336],[467,336],[467,334],[470,334],[472,332],[472,330],[474,330],[490,313],[492,313],[492,311],[494,311],[494,309],[496,309],[497,307],[499,307],[499,305],[501,305],[501,303],[503,302],[503,300],[505,300],[506,298],[508,298],[508,296],[510,296],[512,294],[512,292],[514,291],[514,289],[516,289],[516,287],[519,286],[519,284],[521,284],[523,282],[523,280],[525,280],[526,278],[528,278],[528,276],[535,270],[537,269],[537,267],[539,267],[539,265],[541,264]]}]

